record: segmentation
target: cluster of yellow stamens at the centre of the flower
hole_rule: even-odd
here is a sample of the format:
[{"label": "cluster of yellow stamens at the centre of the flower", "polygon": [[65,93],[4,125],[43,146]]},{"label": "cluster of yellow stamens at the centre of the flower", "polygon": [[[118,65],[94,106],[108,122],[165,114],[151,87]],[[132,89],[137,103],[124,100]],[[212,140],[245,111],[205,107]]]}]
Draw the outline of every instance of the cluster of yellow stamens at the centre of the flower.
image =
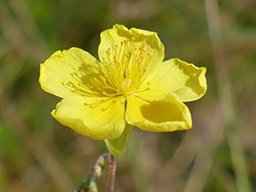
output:
[{"label": "cluster of yellow stamens at the centre of the flower", "polygon": [[106,50],[106,60],[102,61],[102,81],[115,93],[103,91],[103,95],[130,96],[135,92],[149,90],[149,86],[141,89],[140,85],[146,79],[145,72],[153,50],[145,42],[135,44],[135,40],[134,37],[125,39]]}]

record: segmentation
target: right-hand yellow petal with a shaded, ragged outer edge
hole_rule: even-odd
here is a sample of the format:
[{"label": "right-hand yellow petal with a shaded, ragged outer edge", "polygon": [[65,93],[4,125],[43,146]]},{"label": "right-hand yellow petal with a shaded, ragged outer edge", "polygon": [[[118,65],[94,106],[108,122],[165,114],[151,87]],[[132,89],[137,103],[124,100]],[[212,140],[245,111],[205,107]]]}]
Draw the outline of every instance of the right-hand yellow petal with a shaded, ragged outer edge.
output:
[{"label": "right-hand yellow petal with a shaded, ragged outer edge", "polygon": [[137,96],[160,97],[170,93],[182,102],[200,99],[207,91],[205,67],[195,67],[179,59],[164,61],[157,68],[153,79],[149,79],[150,90]]}]

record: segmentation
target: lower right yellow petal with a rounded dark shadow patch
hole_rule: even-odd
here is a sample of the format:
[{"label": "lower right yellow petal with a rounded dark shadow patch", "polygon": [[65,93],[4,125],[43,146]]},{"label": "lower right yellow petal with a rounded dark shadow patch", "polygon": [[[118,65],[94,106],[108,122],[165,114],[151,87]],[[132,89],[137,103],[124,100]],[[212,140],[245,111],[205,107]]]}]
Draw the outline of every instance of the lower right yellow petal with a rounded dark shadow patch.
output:
[{"label": "lower right yellow petal with a rounded dark shadow patch", "polygon": [[181,131],[192,127],[189,109],[173,95],[153,102],[129,96],[125,118],[128,124],[145,131]]}]

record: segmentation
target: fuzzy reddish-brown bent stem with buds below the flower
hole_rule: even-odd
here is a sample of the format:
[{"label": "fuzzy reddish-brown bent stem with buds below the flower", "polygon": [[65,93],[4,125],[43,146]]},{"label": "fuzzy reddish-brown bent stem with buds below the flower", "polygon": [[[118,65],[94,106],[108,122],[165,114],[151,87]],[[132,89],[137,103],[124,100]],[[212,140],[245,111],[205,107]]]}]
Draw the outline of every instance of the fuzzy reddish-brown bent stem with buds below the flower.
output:
[{"label": "fuzzy reddish-brown bent stem with buds below the flower", "polygon": [[101,154],[96,160],[94,166],[92,166],[90,174],[86,180],[79,186],[78,189],[75,189],[73,192],[98,192],[96,186],[96,178],[101,177],[102,171],[105,167],[105,161],[109,162],[109,171],[108,171],[108,192],[113,192],[114,187],[114,177],[116,171],[116,164],[113,157],[113,154]]}]

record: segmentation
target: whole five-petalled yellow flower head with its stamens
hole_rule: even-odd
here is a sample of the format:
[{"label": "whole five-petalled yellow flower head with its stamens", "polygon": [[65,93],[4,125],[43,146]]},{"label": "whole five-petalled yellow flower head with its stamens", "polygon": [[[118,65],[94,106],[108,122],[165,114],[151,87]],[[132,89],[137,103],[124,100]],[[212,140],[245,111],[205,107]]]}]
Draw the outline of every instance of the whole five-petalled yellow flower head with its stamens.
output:
[{"label": "whole five-petalled yellow flower head with its stamens", "polygon": [[171,59],[156,32],[115,25],[101,33],[99,60],[79,48],[56,51],[40,65],[43,90],[62,98],[51,112],[62,125],[97,140],[192,126],[183,102],[207,90],[206,68]]}]

